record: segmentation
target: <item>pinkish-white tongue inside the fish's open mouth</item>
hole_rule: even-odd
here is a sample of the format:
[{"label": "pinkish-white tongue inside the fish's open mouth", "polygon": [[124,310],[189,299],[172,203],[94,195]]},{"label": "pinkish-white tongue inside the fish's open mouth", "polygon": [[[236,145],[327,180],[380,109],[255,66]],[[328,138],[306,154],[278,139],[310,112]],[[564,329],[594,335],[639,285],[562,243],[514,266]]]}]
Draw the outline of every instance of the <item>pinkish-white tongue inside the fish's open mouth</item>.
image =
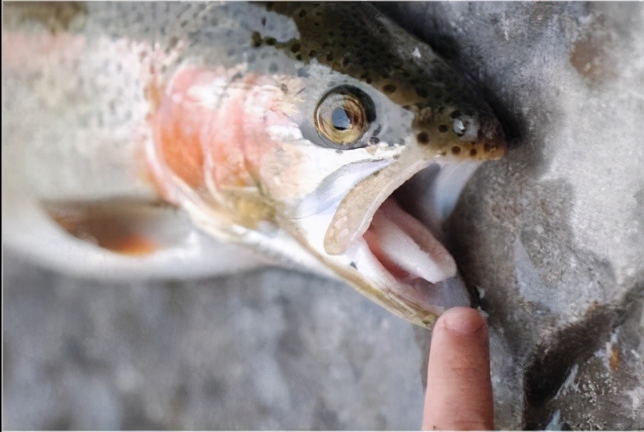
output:
[{"label": "pinkish-white tongue inside the fish's open mouth", "polygon": [[456,276],[456,262],[447,249],[392,197],[373,215],[364,239],[393,276],[409,273],[432,283]]}]

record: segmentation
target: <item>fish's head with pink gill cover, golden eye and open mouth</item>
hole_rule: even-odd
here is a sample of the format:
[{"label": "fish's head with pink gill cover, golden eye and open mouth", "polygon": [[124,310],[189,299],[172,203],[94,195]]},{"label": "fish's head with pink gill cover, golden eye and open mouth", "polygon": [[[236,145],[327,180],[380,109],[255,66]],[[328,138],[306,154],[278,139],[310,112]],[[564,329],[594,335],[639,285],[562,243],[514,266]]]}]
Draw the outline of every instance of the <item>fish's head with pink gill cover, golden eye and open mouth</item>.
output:
[{"label": "fish's head with pink gill cover, golden eye and open mouth", "polygon": [[440,224],[473,167],[503,155],[492,110],[370,6],[273,8],[296,37],[254,32],[252,62],[185,66],[168,85],[150,151],[166,196],[413,323],[469,304]]}]

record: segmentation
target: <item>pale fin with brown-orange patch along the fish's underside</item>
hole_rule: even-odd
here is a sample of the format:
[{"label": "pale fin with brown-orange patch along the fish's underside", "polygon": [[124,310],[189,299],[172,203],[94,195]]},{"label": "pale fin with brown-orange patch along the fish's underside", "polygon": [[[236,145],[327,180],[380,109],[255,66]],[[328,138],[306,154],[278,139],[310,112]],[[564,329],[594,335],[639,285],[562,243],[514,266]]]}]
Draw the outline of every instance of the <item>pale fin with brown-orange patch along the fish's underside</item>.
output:
[{"label": "pale fin with brown-orange patch along the fish's underside", "polygon": [[202,278],[260,267],[242,246],[218,242],[176,208],[157,203],[3,206],[3,243],[42,267],[102,280]]}]

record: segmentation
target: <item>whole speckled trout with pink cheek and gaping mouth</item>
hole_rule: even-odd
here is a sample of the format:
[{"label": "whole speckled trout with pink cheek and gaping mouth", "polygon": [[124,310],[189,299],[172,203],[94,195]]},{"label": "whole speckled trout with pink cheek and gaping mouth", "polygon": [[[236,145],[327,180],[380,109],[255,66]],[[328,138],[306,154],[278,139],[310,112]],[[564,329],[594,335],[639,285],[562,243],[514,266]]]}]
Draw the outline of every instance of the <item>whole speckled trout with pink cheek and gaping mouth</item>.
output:
[{"label": "whole speckled trout with pink cheek and gaping mouth", "polygon": [[422,327],[469,305],[442,224],[506,151],[367,3],[3,3],[3,242],[104,279],[265,264]]}]

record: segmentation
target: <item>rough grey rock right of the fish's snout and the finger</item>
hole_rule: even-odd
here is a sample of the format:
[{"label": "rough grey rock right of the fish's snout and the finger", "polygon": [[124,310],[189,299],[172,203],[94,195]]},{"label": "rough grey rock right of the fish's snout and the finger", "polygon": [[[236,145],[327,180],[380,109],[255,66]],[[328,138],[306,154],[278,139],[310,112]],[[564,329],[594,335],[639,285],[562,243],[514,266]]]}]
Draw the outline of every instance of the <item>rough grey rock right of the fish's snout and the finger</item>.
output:
[{"label": "rough grey rock right of the fish's snout and the finger", "polygon": [[644,428],[644,5],[382,8],[469,73],[511,149],[451,251],[489,314],[497,426]]}]

